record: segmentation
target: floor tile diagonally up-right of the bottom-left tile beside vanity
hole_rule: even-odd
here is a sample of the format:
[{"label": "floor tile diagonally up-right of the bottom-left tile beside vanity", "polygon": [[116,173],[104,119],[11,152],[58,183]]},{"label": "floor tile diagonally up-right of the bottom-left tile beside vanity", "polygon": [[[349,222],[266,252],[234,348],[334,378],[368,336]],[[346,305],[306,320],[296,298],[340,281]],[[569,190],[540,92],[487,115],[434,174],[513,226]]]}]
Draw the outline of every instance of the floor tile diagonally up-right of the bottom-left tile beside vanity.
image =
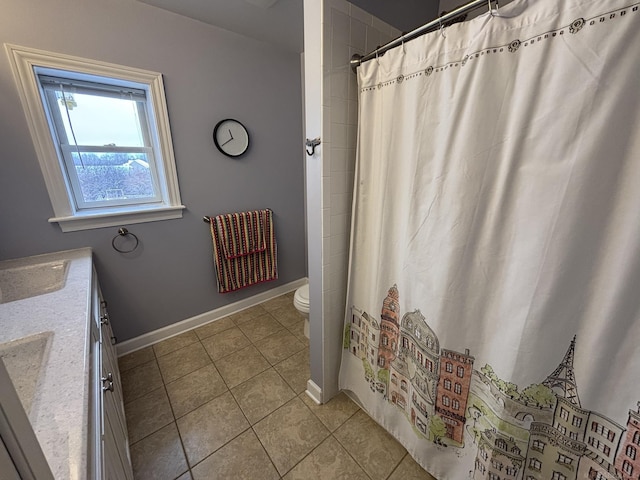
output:
[{"label": "floor tile diagonally up-right of the bottom-left tile beside vanity", "polygon": [[227,386],[213,364],[167,384],[167,393],[176,418],[226,391]]}]

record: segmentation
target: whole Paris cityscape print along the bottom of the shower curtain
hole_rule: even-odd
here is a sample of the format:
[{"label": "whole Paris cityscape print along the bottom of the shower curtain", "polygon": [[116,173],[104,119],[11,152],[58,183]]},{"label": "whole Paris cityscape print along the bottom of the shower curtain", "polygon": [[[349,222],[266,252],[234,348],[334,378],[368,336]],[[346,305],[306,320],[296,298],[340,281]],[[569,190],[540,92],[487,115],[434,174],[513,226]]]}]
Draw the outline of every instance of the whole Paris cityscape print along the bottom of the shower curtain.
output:
[{"label": "whole Paris cityscape print along the bottom of the shower curtain", "polygon": [[394,285],[379,317],[352,308],[343,345],[362,361],[371,391],[402,411],[417,436],[473,452],[473,479],[640,475],[640,402],[624,426],[585,409],[573,371],[575,337],[553,372],[520,390],[490,365],[477,368],[469,349],[440,348],[419,310],[401,315]]}]

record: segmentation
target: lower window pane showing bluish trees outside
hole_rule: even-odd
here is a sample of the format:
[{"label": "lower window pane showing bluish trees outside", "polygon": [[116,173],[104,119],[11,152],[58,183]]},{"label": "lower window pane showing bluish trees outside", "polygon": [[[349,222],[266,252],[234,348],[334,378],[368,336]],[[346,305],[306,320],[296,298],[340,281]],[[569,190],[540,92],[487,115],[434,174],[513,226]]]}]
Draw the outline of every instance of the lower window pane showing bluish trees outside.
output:
[{"label": "lower window pane showing bluish trees outside", "polygon": [[157,195],[144,153],[72,152],[71,155],[85,202],[154,200]]}]

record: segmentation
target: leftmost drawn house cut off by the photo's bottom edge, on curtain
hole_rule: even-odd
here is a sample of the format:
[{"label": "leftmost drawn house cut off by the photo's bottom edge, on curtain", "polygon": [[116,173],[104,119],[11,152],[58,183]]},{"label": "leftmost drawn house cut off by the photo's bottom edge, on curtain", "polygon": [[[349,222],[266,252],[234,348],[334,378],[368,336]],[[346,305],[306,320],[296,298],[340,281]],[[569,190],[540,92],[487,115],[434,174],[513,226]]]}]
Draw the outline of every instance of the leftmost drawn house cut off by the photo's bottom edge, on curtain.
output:
[{"label": "leftmost drawn house cut off by the photo's bottom edge, on curtain", "polygon": [[520,480],[524,460],[513,438],[485,430],[480,435],[473,479]]}]

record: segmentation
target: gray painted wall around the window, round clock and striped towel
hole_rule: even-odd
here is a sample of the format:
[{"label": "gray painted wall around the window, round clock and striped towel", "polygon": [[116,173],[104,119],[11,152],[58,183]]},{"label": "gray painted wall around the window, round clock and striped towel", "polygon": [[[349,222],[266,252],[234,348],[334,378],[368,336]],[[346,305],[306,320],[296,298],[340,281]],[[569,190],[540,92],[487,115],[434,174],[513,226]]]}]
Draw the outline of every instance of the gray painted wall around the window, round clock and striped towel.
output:
[{"label": "gray painted wall around the window, round clock and striped towel", "polygon": [[[83,246],[119,340],[306,276],[300,57],[134,0],[4,0],[0,43],[94,58],[164,75],[182,201],[179,220],[128,226],[134,254],[111,248],[117,228],[62,233],[53,216],[6,53],[0,53],[0,259]],[[232,160],[211,138],[241,120],[249,153]],[[203,215],[274,211],[280,278],[217,293]]]}]

